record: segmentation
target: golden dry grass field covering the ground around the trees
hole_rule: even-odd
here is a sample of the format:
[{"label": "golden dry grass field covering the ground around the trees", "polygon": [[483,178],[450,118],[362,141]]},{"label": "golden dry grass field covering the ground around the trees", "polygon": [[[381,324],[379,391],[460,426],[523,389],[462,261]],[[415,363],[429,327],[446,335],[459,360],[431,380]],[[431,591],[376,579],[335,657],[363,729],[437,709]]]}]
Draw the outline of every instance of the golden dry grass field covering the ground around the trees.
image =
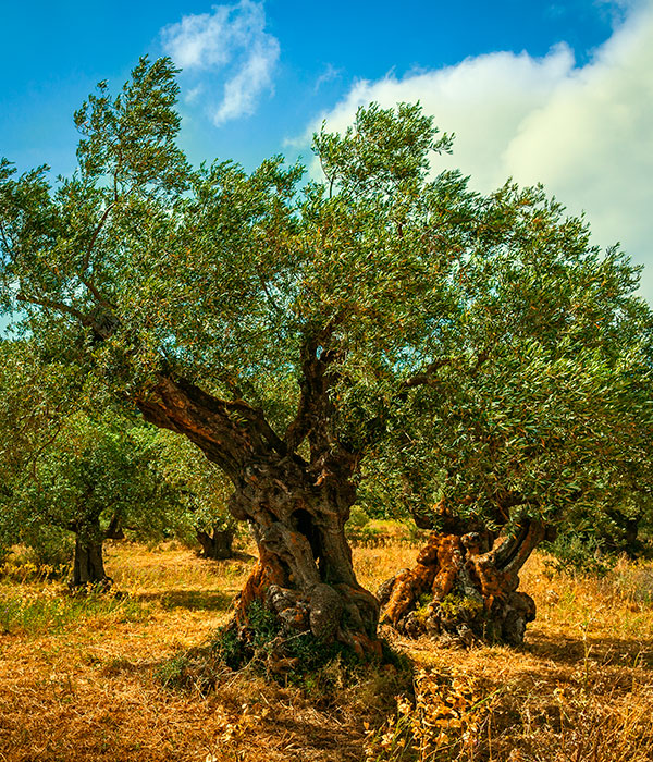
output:
[{"label": "golden dry grass field covering the ground around the trees", "polygon": [[[356,549],[361,582],[375,589],[416,552]],[[386,666],[346,683],[334,664],[301,687],[226,668],[209,691],[164,687],[175,656],[227,619],[250,563],[124,543],[108,549],[115,594],[5,576],[0,761],[653,760],[651,565],[619,563],[596,580],[552,577],[533,557],[522,589],[538,619],[523,649],[385,632],[414,663],[408,680]]]}]

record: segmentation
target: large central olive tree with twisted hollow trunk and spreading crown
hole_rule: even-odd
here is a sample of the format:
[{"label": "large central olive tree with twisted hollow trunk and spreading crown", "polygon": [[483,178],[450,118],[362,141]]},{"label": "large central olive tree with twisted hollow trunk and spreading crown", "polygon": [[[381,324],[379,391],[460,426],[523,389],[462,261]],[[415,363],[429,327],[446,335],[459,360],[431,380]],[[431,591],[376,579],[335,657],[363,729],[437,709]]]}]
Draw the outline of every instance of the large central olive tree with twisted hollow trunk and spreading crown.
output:
[{"label": "large central olive tree with twisted hollow trunk and spreading crown", "polygon": [[637,273],[539,188],[482,196],[431,175],[452,142],[419,106],[323,128],[312,182],[281,157],[189,167],[176,97],[171,62],[144,59],[75,114],[71,177],[2,163],[3,306],[229,478],[259,550],[239,632],[260,601],[288,631],[380,653],[344,533],[374,457],[424,432],[440,395],[455,407],[453,369],[473,379],[528,341],[544,367],[566,345],[584,368],[578,348],[642,309]]}]

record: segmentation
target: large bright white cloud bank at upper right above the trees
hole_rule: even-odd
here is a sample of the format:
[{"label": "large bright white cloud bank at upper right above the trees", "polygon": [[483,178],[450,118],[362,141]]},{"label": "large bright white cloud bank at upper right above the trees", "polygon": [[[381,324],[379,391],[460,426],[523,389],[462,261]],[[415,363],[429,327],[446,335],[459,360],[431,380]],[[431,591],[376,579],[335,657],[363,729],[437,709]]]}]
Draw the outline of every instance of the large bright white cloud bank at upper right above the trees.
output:
[{"label": "large bright white cloud bank at upper right above the trees", "polygon": [[[594,241],[620,241],[645,263],[642,292],[653,300],[653,0],[576,66],[566,45],[542,59],[491,53],[455,66],[358,82],[330,113],[330,128],[350,123],[356,108],[421,101],[443,130],[456,133],[459,167],[488,192],[513,176],[543,182],[568,209],[586,210]],[[311,125],[317,128],[322,118]]]}]

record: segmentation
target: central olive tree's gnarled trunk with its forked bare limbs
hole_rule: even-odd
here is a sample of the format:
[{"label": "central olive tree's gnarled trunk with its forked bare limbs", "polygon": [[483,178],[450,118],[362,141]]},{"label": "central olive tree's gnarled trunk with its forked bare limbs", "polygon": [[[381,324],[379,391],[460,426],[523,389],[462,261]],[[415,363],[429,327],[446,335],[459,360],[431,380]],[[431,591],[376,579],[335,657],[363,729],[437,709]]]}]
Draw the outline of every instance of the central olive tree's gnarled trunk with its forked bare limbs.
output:
[{"label": "central olive tree's gnarled trunk with its forked bare limbs", "polygon": [[[381,655],[379,603],[358,585],[344,533],[357,459],[319,426],[328,420],[320,376],[326,361],[326,353],[307,360],[310,383],[284,440],[261,410],[239,400],[217,400],[180,380],[161,378],[137,404],[147,420],[194,441],[235,486],[230,512],[249,523],[259,551],[236,604],[233,626],[239,636],[247,640],[249,611],[258,602],[276,615],[286,635],[312,632],[369,659]],[[306,437],[310,462],[296,453]]]}]

